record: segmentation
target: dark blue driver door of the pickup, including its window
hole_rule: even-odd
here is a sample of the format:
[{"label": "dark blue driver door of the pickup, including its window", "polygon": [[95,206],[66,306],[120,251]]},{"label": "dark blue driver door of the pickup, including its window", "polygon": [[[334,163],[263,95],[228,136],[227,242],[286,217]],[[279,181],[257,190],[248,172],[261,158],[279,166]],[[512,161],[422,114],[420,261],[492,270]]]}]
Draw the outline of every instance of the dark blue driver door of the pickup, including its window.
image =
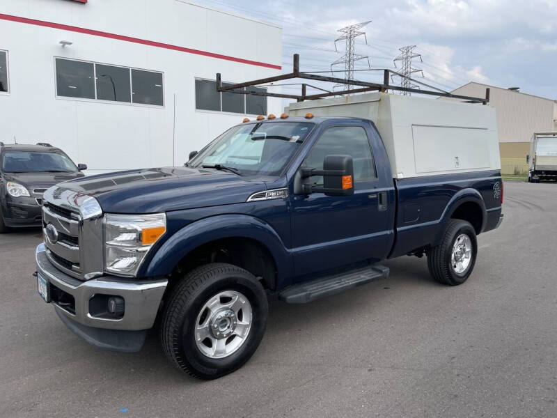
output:
[{"label": "dark blue driver door of the pickup, including its window", "polygon": [[[356,261],[379,261],[391,242],[389,210],[377,192],[379,179],[367,125],[347,121],[327,127],[308,151],[302,167],[323,169],[327,155],[350,155],[354,162],[354,194],[291,196],[292,254],[295,274],[311,274]],[[380,140],[375,133],[377,140]],[[322,184],[322,177],[312,177]],[[382,196],[379,196],[382,194]],[[379,200],[381,199],[381,200]]]}]

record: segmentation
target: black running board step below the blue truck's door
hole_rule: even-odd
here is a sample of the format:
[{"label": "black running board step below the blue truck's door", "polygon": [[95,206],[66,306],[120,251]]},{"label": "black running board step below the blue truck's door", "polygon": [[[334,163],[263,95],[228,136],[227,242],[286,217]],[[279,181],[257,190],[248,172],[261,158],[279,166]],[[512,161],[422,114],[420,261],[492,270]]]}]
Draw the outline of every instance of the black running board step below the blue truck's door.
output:
[{"label": "black running board step below the blue truck's door", "polygon": [[359,268],[341,274],[321,277],[295,284],[278,293],[278,299],[287,303],[307,303],[320,297],[334,295],[347,289],[389,277],[389,268],[383,265]]}]

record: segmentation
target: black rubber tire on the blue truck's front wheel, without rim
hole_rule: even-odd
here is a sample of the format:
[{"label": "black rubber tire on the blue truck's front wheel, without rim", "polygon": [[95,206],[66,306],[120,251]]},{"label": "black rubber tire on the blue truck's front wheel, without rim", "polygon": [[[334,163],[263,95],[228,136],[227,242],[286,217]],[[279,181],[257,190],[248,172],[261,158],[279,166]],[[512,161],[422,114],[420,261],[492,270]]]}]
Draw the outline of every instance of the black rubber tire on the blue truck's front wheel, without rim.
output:
[{"label": "black rubber tire on the blue truck's front wheel, without rim", "polygon": [[[197,347],[194,327],[205,302],[221,291],[237,291],[249,300],[252,323],[240,348],[215,359]],[[185,274],[171,291],[160,326],[162,348],[178,369],[194,378],[219,378],[240,369],[255,353],[265,334],[267,312],[267,295],[253,274],[231,264],[203,265]]]}]

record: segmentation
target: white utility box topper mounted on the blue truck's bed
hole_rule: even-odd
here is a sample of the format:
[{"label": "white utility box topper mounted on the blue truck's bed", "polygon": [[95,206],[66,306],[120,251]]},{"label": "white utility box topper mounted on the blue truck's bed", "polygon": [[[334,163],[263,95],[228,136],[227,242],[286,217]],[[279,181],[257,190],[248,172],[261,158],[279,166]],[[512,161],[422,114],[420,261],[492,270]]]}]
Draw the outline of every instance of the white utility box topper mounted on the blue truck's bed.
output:
[{"label": "white utility box topper mounted on the blue truck's bed", "polygon": [[285,112],[373,121],[395,178],[501,169],[495,109],[489,105],[367,93],[295,102]]}]

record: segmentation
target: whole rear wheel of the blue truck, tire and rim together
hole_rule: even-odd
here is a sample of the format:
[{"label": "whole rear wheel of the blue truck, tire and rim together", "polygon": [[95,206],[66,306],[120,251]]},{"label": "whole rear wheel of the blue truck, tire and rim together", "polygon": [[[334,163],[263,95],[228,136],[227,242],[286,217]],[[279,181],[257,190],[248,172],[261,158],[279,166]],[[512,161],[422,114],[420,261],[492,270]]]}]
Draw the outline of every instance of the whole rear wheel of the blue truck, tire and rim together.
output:
[{"label": "whole rear wheel of the blue truck, tire and rim together", "polygon": [[463,284],[476,264],[478,241],[473,226],[461,219],[450,219],[441,245],[430,249],[427,268],[442,284]]}]

